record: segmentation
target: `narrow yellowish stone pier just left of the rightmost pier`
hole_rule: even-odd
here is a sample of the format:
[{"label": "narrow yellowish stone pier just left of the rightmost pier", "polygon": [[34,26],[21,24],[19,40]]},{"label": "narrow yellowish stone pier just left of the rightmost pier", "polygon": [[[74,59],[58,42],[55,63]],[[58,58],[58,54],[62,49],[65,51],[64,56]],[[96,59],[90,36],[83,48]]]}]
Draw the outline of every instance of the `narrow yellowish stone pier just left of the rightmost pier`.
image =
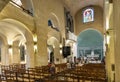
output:
[{"label": "narrow yellowish stone pier just left of the rightmost pier", "polygon": [[108,81],[114,81],[114,64],[115,64],[115,53],[114,53],[114,26],[113,26],[113,4],[109,4],[109,29],[107,30],[107,36],[110,37],[109,42],[109,53],[107,54],[107,73],[108,73]]}]

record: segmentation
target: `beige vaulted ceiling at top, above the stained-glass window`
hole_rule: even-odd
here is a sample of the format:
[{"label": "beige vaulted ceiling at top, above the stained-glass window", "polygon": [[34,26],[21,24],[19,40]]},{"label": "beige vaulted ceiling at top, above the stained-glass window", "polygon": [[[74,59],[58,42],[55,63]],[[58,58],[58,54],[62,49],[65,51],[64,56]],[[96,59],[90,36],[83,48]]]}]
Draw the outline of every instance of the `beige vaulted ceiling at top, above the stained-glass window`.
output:
[{"label": "beige vaulted ceiling at top, above the stained-glass window", "polygon": [[98,5],[103,8],[105,0],[62,0],[65,5],[70,9],[72,15],[86,6]]}]

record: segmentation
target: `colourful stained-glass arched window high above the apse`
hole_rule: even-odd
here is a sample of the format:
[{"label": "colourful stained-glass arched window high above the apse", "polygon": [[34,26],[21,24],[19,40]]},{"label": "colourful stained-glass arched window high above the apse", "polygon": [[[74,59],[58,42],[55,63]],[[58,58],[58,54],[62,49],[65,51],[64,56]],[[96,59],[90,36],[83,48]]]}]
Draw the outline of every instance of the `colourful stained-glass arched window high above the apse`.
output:
[{"label": "colourful stained-glass arched window high above the apse", "polygon": [[93,8],[87,8],[83,11],[83,22],[94,21],[94,10]]}]

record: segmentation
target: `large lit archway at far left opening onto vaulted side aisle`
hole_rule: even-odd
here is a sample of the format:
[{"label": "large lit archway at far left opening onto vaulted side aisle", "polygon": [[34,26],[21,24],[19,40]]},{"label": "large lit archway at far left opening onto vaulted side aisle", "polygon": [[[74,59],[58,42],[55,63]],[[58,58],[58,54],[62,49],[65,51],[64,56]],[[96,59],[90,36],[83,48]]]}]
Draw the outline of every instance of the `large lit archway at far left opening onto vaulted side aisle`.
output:
[{"label": "large lit archway at far left opening onto vaulted side aisle", "polygon": [[[26,55],[29,55],[28,53],[30,53],[30,51],[26,50],[28,49],[26,48],[26,43],[29,41],[32,42],[33,39],[28,39],[28,36],[26,37],[26,35],[29,34],[29,36],[32,37],[31,31],[22,22],[14,19],[1,20],[0,29],[0,37],[3,39],[1,46],[1,63],[24,63],[27,66],[29,62],[26,62]],[[25,47],[21,47],[21,44],[24,44]]]}]

